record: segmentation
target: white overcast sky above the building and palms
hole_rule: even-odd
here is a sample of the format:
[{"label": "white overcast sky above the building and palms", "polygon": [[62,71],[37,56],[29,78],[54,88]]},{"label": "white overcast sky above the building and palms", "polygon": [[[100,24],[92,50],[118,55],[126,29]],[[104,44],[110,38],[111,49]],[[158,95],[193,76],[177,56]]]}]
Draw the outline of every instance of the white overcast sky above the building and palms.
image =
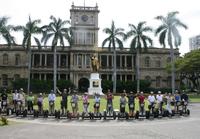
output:
[{"label": "white overcast sky above the building and palms", "polygon": [[[41,19],[43,24],[49,22],[50,15],[69,20],[70,8],[83,6],[84,0],[0,0],[0,16],[8,16],[9,24],[25,25],[30,15],[32,19]],[[86,6],[99,6],[99,46],[106,37],[102,29],[110,27],[114,20],[117,27],[126,31],[128,23],[137,24],[147,21],[147,25],[156,28],[158,15],[166,15],[171,11],[179,11],[178,18],[185,23],[188,30],[180,30],[182,45],[181,54],[189,51],[189,38],[200,34],[200,8],[198,0],[85,0]],[[15,34],[16,42],[21,44],[22,34]],[[128,43],[125,43],[128,47]],[[161,47],[154,38],[154,46]]]}]

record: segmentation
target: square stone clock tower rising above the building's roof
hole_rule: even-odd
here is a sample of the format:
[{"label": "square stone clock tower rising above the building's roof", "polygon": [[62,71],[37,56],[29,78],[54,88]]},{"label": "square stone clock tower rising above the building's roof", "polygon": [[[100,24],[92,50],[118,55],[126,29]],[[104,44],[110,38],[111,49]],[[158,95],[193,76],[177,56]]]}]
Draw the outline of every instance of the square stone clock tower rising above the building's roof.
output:
[{"label": "square stone clock tower rising above the building's roof", "polygon": [[71,27],[74,35],[74,46],[98,45],[98,6],[74,6],[70,10]]}]

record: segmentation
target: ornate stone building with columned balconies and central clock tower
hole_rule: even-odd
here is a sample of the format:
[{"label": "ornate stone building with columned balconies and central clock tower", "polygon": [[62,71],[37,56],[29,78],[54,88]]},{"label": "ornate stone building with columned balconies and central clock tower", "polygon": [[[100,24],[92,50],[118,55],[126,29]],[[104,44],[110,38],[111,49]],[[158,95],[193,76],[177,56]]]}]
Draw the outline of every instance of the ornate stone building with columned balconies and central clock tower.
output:
[{"label": "ornate stone building with columned balconies and central clock tower", "polygon": [[[88,82],[91,73],[91,55],[96,54],[100,61],[99,73],[104,80],[112,80],[113,52],[98,47],[98,6],[74,6],[70,10],[74,44],[57,48],[58,79],[71,80],[77,87]],[[135,55],[128,49],[117,50],[117,80],[135,80]],[[178,56],[178,50],[175,51]],[[150,80],[152,87],[171,86],[171,76],[165,70],[170,62],[169,49],[149,48],[140,55],[141,79]],[[53,52],[50,47],[38,50],[32,47],[31,78],[53,80]],[[26,78],[28,56],[20,45],[8,48],[0,46],[0,87],[11,86],[16,78]],[[177,79],[178,80],[178,79]]]}]

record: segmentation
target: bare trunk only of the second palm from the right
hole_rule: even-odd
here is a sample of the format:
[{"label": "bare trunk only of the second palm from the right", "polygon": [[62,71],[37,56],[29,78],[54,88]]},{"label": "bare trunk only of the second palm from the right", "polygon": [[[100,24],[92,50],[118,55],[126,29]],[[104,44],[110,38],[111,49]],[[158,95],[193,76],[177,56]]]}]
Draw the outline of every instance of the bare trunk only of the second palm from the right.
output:
[{"label": "bare trunk only of the second palm from the right", "polygon": [[136,79],[137,79],[137,93],[140,92],[140,52],[139,49],[137,49],[137,53],[136,53]]}]

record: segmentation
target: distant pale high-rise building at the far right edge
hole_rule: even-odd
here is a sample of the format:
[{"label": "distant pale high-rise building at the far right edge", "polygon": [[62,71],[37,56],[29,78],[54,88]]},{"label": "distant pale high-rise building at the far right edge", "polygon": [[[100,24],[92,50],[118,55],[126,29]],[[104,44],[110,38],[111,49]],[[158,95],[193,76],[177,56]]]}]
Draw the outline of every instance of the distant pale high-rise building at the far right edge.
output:
[{"label": "distant pale high-rise building at the far right edge", "polygon": [[200,49],[200,35],[191,37],[189,39],[189,46],[190,46],[190,51]]}]

